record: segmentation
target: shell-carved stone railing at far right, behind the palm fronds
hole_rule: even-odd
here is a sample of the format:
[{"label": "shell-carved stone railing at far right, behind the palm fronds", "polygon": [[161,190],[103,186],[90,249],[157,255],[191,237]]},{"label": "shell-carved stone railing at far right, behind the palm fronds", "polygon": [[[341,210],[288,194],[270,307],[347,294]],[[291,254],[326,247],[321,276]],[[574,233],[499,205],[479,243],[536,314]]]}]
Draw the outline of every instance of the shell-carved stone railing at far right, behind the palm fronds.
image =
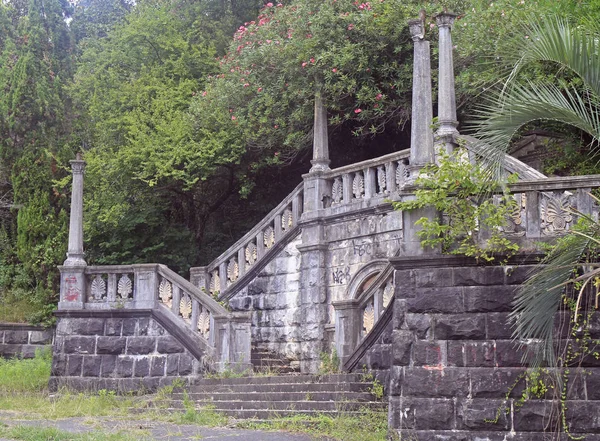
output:
[{"label": "shell-carved stone railing at far right, behind the palm fronds", "polygon": [[517,208],[508,219],[505,234],[540,239],[566,233],[577,213],[598,218],[598,204],[591,196],[600,188],[600,175],[553,177],[510,185]]}]

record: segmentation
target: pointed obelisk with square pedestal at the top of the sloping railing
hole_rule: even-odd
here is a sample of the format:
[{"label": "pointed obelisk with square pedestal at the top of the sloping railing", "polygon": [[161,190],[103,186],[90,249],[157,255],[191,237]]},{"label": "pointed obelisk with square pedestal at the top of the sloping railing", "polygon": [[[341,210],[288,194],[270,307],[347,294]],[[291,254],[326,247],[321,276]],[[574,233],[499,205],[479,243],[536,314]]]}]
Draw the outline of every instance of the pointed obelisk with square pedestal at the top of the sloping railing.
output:
[{"label": "pointed obelisk with square pedestal at the top of the sloping railing", "polygon": [[315,120],[313,138],[312,167],[304,175],[304,213],[316,211],[324,206],[324,198],[329,195],[329,183],[324,173],[329,168],[329,141],[327,139],[327,109],[323,103],[321,91],[315,93]]}]

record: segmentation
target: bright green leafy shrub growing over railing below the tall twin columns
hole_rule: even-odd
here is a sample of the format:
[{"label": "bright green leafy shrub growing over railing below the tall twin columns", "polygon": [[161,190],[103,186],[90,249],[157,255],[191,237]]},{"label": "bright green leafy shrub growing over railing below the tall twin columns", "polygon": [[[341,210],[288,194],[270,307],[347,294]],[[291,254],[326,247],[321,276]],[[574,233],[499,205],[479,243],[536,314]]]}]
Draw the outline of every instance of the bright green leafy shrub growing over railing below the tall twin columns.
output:
[{"label": "bright green leafy shrub growing over railing below the tall twin columns", "polygon": [[439,165],[429,165],[419,175],[415,199],[393,203],[397,210],[433,207],[440,213],[442,218],[422,217],[416,222],[422,245],[484,261],[515,254],[518,245],[501,229],[517,208],[514,198],[490,181],[484,168],[469,162],[465,151],[441,153],[438,158]]}]

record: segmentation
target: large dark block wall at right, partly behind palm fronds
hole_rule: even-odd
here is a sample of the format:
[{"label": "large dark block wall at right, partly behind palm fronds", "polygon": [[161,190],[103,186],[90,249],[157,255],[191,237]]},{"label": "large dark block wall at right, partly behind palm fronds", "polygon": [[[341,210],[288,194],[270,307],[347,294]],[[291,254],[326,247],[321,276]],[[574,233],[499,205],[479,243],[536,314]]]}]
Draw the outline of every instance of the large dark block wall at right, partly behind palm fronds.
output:
[{"label": "large dark block wall at right, partly behind palm fronds", "polygon": [[[522,351],[506,324],[515,288],[532,266],[477,267],[452,257],[393,264],[390,427],[401,439],[559,439],[549,433],[561,417],[551,391],[521,403]],[[585,375],[570,374],[573,433],[600,433],[599,366],[591,359]]]}]

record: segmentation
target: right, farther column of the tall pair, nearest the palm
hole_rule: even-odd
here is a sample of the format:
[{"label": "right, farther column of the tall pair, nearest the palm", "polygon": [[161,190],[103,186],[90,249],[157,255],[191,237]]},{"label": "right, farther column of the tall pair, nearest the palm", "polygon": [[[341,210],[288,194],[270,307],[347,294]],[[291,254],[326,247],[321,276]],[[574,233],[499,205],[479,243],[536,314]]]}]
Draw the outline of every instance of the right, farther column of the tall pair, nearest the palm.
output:
[{"label": "right, farther column of the tall pair, nearest the palm", "polygon": [[436,17],[439,29],[439,85],[438,85],[438,120],[436,132],[438,148],[445,148],[448,153],[456,147],[454,135],[458,134],[456,120],[456,91],[454,87],[454,61],[452,57],[452,25],[455,14],[442,12]]}]

